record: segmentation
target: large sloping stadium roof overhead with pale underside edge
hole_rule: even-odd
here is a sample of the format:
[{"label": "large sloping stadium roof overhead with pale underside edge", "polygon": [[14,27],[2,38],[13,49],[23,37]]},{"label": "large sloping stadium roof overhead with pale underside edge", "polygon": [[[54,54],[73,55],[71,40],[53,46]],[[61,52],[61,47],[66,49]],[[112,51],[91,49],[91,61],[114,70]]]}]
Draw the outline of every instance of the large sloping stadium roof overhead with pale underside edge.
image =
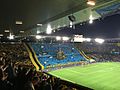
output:
[{"label": "large sloping stadium roof overhead with pale underside edge", "polygon": [[[1,0],[0,33],[5,35],[5,30],[10,30],[13,34],[19,34],[24,30],[25,34],[34,34],[38,23],[43,25],[41,31],[44,32],[48,23],[55,29],[59,24],[62,26],[61,23],[68,25],[68,15],[71,14],[77,18],[76,23],[86,21],[91,11],[97,19],[102,16],[100,8],[119,1],[96,0],[96,5],[91,9],[86,4],[87,0]],[[16,24],[16,21],[22,25]]]}]

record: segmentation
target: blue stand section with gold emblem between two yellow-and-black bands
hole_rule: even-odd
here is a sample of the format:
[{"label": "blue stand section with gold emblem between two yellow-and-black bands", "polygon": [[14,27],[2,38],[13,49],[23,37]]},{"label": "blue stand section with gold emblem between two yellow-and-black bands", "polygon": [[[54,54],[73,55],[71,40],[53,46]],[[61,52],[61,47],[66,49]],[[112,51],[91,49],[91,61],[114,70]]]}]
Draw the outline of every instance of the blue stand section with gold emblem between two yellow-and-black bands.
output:
[{"label": "blue stand section with gold emblem between two yellow-and-black bands", "polygon": [[85,61],[71,43],[31,43],[40,63],[45,67]]}]

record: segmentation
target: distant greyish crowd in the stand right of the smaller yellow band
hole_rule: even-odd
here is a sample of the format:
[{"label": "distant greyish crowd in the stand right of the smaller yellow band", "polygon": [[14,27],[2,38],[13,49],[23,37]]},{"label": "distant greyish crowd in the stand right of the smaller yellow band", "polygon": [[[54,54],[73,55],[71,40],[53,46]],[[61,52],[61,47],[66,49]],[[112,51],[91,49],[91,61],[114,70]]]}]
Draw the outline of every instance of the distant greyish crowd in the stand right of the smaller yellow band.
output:
[{"label": "distant greyish crowd in the stand right of the smaller yellow band", "polygon": [[120,62],[119,43],[79,43],[76,44],[76,47],[97,62]]}]

